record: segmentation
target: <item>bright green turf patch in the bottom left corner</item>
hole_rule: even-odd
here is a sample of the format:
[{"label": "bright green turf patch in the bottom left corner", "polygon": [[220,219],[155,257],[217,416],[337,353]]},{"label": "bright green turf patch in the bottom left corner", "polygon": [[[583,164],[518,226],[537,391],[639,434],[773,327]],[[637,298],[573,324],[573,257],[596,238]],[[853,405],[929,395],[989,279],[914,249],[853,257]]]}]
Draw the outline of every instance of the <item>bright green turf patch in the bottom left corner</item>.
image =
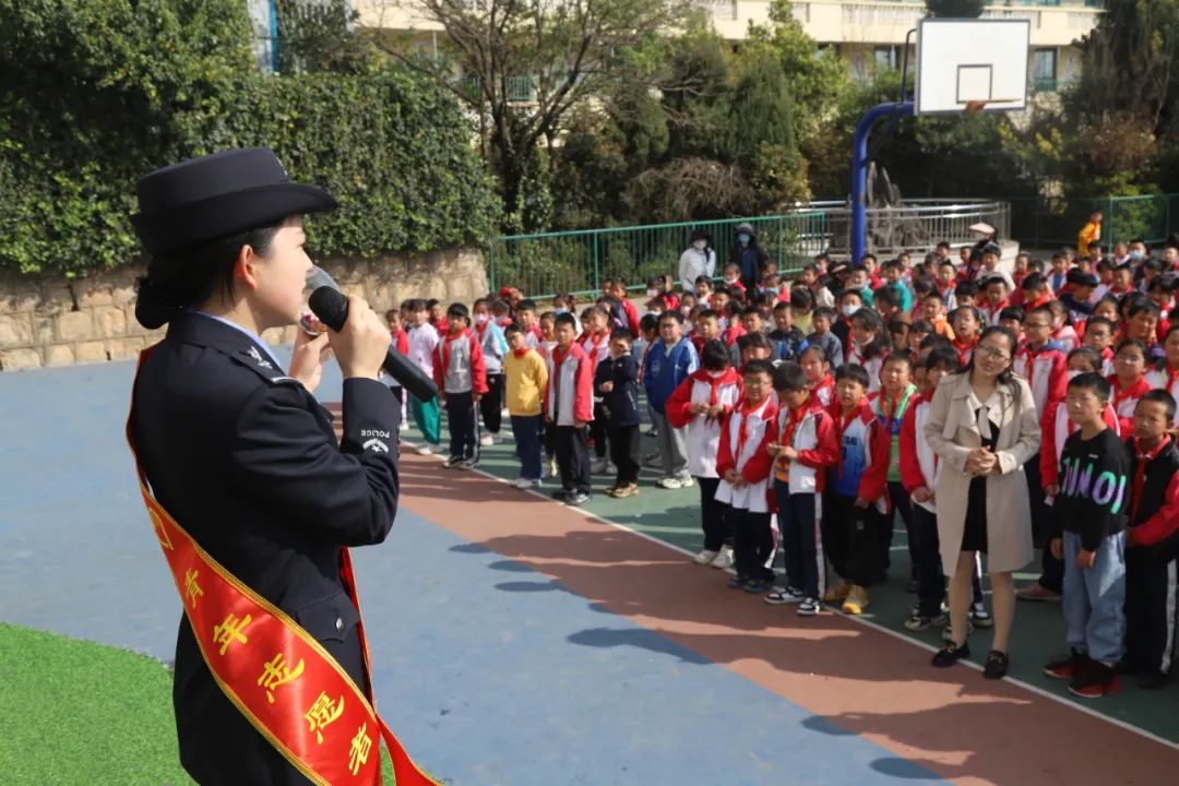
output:
[{"label": "bright green turf patch in the bottom left corner", "polygon": [[5,786],[193,784],[178,758],[172,674],[158,660],[0,622],[0,674]]}]

